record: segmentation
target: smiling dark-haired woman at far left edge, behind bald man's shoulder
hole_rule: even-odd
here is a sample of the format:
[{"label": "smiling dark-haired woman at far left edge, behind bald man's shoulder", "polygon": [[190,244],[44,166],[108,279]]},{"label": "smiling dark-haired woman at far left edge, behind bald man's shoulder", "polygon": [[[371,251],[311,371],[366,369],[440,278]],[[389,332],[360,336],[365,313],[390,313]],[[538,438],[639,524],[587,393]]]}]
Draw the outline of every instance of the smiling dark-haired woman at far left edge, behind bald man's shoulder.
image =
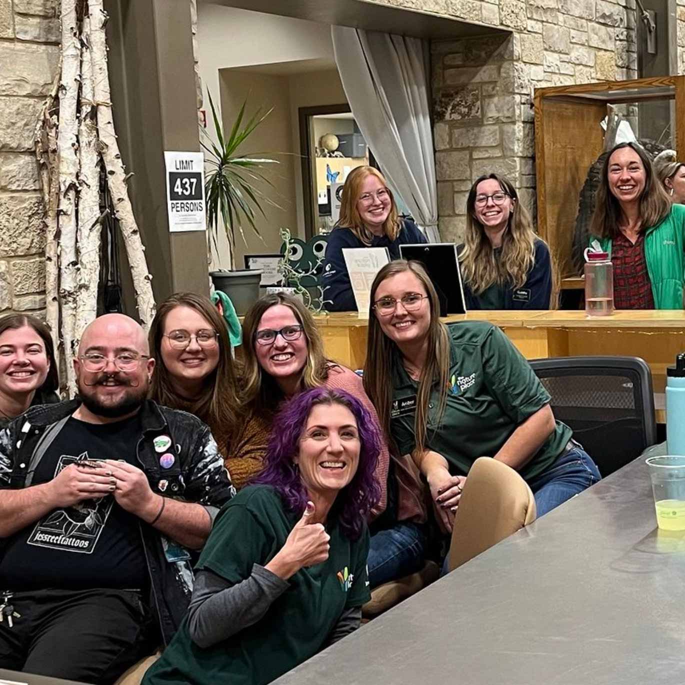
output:
[{"label": "smiling dark-haired woman at far left edge, behind bald man's shoulder", "polygon": [[29,314],[0,317],[0,428],[34,404],[59,401],[50,332]]}]

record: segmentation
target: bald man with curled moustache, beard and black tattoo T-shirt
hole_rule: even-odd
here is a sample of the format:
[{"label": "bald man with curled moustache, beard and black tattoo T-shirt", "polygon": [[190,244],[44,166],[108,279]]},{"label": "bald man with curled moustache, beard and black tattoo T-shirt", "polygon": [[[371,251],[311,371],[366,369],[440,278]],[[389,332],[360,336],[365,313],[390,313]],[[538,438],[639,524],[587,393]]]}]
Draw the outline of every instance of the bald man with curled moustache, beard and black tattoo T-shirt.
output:
[{"label": "bald man with curled moustache, beard and black tattoo T-shirt", "polygon": [[73,364],[77,399],[0,432],[0,668],[107,684],[173,636],[234,488],[210,429],[147,399],[133,319],[96,319]]}]

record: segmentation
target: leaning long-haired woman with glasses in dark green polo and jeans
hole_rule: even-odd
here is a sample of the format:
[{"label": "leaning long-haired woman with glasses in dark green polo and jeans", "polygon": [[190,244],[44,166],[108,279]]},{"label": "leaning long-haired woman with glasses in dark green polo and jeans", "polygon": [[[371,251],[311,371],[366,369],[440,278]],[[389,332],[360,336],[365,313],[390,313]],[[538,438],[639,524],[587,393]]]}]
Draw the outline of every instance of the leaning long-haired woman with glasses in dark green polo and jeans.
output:
[{"label": "leaning long-haired woman with glasses in dark green polo and jeans", "polygon": [[549,394],[497,326],[449,327],[419,262],[379,271],[364,388],[401,454],[427,478],[438,521],[451,530],[471,464],[490,456],[527,481],[538,516],[600,478],[595,462],[556,421]]}]

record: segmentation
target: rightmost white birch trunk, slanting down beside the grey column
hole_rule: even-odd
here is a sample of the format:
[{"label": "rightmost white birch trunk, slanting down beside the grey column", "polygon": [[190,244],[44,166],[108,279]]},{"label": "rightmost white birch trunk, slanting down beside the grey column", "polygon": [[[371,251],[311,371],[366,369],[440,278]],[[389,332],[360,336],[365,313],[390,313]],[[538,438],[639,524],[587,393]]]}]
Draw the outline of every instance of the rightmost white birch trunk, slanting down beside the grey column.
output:
[{"label": "rightmost white birch trunk, slanting down beside the grey column", "polygon": [[152,293],[152,276],[147,269],[145,247],[133,214],[126,188],[126,175],[119,144],[114,133],[110,79],[107,69],[107,47],[105,43],[105,22],[107,14],[102,0],[88,0],[90,16],[90,45],[92,49],[92,74],[97,102],[97,127],[102,147],[102,158],[107,171],[107,183],[112,196],[116,219],[119,221],[124,247],[128,257],[138,316],[142,327],[147,330],[155,315],[155,299]]}]

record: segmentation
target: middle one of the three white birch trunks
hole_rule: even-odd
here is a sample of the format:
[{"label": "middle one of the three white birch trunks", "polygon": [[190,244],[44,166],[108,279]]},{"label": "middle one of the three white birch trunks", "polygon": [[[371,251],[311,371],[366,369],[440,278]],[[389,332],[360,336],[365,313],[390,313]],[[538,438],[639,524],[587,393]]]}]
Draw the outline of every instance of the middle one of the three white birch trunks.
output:
[{"label": "middle one of the three white birch trunks", "polygon": [[79,223],[77,251],[79,284],[74,343],[97,316],[100,279],[100,155],[97,149],[95,93],[92,83],[90,20],[84,16],[81,36],[81,121],[79,123]]}]

